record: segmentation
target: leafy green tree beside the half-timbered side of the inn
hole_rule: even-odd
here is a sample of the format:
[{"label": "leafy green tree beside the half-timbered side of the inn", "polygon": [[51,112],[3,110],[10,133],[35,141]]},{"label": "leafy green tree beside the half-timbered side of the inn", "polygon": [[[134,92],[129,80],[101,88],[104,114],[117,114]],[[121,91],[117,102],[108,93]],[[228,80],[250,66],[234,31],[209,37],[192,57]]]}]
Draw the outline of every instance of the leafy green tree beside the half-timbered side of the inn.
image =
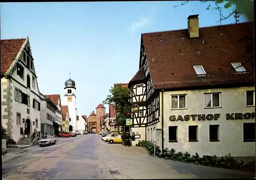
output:
[{"label": "leafy green tree beside the half-timbered side of the inn", "polygon": [[126,87],[111,87],[110,95],[106,97],[103,104],[115,103],[116,121],[115,126],[125,126],[127,118],[131,118],[132,106],[130,103],[130,89]]}]

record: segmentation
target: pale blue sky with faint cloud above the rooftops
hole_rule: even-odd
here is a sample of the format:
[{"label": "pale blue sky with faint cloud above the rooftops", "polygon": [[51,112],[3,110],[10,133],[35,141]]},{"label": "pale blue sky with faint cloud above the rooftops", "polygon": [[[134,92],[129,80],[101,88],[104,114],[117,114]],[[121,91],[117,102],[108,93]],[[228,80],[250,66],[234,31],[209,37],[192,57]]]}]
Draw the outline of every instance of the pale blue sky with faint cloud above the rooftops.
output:
[{"label": "pale blue sky with faint cloud above the rooftops", "polygon": [[[186,29],[193,14],[199,14],[200,27],[220,24],[220,12],[206,10],[209,3],[174,8],[181,3],[1,3],[1,39],[29,37],[39,91],[60,94],[62,105],[71,73],[76,108],[89,116],[114,83],[128,83],[139,70],[142,33]],[[231,16],[221,24],[234,22]]]}]

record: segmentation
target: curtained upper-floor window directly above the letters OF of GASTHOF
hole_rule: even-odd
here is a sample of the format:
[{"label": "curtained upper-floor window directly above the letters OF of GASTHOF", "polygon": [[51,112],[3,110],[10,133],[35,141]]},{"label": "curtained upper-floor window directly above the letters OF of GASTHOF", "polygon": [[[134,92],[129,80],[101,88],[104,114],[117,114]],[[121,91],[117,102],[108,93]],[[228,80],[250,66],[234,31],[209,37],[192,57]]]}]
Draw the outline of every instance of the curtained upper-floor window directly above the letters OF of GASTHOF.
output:
[{"label": "curtained upper-floor window directly above the letters OF of GASTHOF", "polygon": [[204,107],[221,107],[221,93],[204,94]]}]

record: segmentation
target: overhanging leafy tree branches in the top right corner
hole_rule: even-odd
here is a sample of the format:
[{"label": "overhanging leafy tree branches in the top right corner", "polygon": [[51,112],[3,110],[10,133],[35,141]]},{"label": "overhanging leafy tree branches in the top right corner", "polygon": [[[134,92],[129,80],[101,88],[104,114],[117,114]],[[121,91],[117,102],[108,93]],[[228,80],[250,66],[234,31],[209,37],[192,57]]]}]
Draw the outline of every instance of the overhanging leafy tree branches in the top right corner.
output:
[{"label": "overhanging leafy tree branches in the top right corner", "polygon": [[[188,2],[190,2],[190,1],[184,1],[180,5],[174,6],[174,8],[183,6],[183,5],[187,4]],[[239,14],[245,14],[247,16],[247,18],[249,18],[250,20],[253,19],[253,1],[250,1],[250,0],[246,0],[246,1],[236,1],[236,0],[216,1],[215,0],[215,1],[200,1],[200,2],[201,3],[210,3],[210,2],[215,3],[215,6],[211,6],[209,4],[208,7],[206,8],[206,10],[209,10],[209,9],[223,10],[221,5],[222,6],[224,5],[224,9],[231,10],[231,12],[227,16],[221,15],[220,20],[225,20],[232,15],[237,15],[237,17],[239,17]]]}]

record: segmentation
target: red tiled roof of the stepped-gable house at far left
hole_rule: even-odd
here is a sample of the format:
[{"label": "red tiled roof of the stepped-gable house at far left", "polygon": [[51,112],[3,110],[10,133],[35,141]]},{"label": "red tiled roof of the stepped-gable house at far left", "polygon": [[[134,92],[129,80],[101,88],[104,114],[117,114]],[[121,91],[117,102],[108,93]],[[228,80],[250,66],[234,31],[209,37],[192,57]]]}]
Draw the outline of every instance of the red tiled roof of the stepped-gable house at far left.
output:
[{"label": "red tiled roof of the stepped-gable house at far left", "polygon": [[1,74],[5,74],[15,60],[25,38],[1,40]]}]

